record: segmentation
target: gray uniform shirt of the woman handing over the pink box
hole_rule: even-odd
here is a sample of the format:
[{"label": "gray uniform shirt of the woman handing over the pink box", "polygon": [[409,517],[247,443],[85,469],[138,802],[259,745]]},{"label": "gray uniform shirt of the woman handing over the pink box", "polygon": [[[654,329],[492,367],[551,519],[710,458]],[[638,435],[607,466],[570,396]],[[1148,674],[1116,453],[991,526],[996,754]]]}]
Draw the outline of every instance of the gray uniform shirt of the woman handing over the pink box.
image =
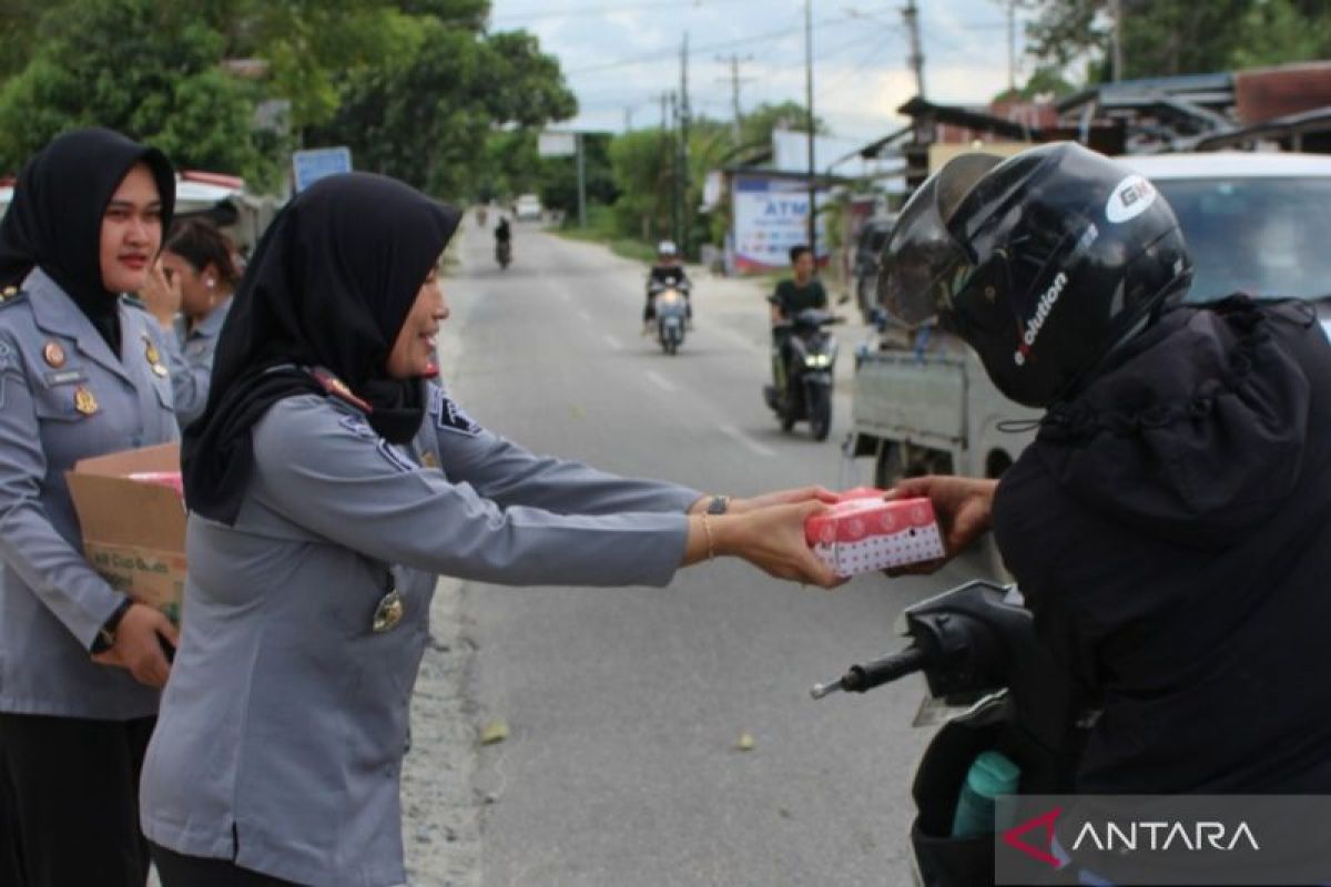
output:
[{"label": "gray uniform shirt of the woman handing over the pink box", "polygon": [[[664,585],[700,493],[534,456],[435,386],[411,447],[311,395],[274,404],[253,435],[236,525],[189,519],[144,832],[299,883],[398,884],[399,766],[437,574]],[[403,617],[375,633],[390,589]]]}]

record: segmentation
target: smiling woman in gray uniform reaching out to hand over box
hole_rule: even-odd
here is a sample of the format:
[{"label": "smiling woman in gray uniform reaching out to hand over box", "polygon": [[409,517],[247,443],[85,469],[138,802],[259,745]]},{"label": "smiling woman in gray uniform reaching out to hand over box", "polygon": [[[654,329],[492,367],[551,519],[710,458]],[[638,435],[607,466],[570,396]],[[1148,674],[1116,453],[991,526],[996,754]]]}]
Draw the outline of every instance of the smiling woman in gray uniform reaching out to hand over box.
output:
[{"label": "smiling woman in gray uniform reaching out to hand over box", "polygon": [[458,218],[391,180],[322,180],[236,295],[185,434],[186,617],[142,778],[166,887],[405,882],[399,766],[441,573],[659,586],[736,555],[836,582],[804,543],[817,491],[720,513],[471,420],[431,379]]}]

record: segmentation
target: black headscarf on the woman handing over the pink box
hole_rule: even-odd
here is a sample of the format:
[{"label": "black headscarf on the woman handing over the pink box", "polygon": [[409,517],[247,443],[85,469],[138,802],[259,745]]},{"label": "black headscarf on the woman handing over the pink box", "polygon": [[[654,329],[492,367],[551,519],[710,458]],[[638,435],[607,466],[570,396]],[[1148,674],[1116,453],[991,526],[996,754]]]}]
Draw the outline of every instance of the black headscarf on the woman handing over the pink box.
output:
[{"label": "black headscarf on the woman handing over the pink box", "polygon": [[208,408],[185,431],[192,511],[236,523],[253,426],[282,398],[323,392],[306,368],[334,374],[369,403],[385,439],[415,435],[422,380],[391,379],[385,362],[459,219],[457,209],[367,173],[321,180],[273,219],[218,338]]}]

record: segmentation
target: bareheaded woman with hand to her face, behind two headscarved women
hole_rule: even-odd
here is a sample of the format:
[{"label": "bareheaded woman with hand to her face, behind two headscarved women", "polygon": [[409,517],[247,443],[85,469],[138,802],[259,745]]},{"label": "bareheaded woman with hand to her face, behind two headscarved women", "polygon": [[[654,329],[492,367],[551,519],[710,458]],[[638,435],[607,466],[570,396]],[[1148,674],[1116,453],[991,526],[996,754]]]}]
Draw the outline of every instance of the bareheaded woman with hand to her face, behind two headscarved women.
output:
[{"label": "bareheaded woman with hand to her face, behind two headscarved women", "polygon": [[240,282],[236,251],[217,226],[202,218],[178,221],[142,290],[144,303],[162,327],[176,418],[184,428],[204,412],[217,334]]}]

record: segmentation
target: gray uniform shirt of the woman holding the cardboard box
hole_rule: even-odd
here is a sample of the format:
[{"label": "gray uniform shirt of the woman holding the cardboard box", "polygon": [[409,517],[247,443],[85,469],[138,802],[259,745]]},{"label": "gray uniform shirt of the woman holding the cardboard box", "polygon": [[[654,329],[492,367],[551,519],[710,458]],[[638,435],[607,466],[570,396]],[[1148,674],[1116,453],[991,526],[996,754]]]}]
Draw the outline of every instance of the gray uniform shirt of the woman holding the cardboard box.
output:
[{"label": "gray uniform shirt of the woman holding the cardboard box", "polygon": [[157,710],[157,690],[89,658],[125,598],[84,559],[65,484],[80,459],[178,434],[170,382],[149,360],[164,347],[157,323],[121,302],[120,338],[117,358],[40,269],[0,302],[0,711],[118,721]]}]

